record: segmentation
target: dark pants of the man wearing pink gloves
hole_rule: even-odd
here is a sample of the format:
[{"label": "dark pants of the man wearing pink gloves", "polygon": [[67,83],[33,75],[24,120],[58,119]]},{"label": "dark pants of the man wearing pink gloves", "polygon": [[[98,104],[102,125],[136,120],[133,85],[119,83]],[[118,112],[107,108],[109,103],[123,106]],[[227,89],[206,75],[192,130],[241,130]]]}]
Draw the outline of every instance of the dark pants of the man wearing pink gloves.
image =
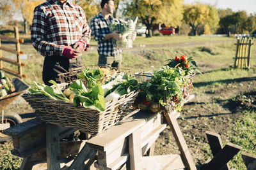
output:
[{"label": "dark pants of the man wearing pink gloves", "polygon": [[58,74],[67,73],[72,68],[82,67],[82,57],[79,56],[76,59],[67,59],[63,56],[51,56],[45,57],[43,67],[43,81],[45,85],[52,85],[49,80],[54,80],[56,83],[61,83],[58,78]]}]

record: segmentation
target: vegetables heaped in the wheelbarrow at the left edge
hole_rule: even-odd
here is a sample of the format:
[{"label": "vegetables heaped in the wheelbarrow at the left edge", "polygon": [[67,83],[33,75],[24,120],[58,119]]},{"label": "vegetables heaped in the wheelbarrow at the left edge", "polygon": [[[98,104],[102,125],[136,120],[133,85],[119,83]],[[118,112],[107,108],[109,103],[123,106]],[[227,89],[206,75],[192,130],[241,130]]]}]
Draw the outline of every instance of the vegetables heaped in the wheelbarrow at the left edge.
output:
[{"label": "vegetables heaped in the wheelbarrow at the left edge", "polygon": [[4,74],[4,71],[0,71],[0,97],[7,96],[12,92],[15,92],[12,81]]}]

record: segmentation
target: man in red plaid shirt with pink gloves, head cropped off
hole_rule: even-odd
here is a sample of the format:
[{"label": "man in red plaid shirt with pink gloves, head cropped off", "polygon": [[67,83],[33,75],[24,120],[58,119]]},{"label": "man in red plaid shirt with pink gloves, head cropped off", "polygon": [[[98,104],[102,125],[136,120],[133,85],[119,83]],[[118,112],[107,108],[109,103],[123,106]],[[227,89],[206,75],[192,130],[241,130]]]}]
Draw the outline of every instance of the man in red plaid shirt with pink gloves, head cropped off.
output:
[{"label": "man in red plaid shirt with pink gloves, head cropped off", "polygon": [[82,52],[90,43],[91,30],[84,11],[70,0],[47,0],[36,6],[31,43],[45,57],[43,81],[58,81],[58,74],[83,66]]}]

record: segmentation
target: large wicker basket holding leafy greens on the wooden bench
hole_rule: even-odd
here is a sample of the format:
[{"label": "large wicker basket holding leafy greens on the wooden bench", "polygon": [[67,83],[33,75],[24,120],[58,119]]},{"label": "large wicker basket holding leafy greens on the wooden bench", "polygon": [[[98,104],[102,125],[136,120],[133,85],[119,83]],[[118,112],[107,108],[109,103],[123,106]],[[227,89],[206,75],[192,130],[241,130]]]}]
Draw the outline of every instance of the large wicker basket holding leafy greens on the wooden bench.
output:
[{"label": "large wicker basket holding leafy greens on the wooden bench", "polygon": [[23,94],[22,97],[43,122],[72,127],[96,135],[122,120],[129,113],[124,110],[125,106],[133,103],[137,94],[138,92],[132,91],[119,99],[106,103],[105,111],[92,110],[83,106],[75,107],[72,103],[33,94]]}]

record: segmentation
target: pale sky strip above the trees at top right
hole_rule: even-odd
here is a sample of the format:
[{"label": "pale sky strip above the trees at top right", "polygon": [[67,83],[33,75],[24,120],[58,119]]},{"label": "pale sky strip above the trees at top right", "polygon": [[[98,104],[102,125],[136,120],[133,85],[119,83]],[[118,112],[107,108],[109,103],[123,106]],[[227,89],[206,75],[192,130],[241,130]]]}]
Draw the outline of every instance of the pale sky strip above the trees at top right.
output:
[{"label": "pale sky strip above the trees at top right", "polygon": [[184,4],[191,4],[195,1],[205,4],[216,4],[216,8],[231,8],[232,11],[244,10],[247,14],[256,13],[256,0],[184,0]]}]

